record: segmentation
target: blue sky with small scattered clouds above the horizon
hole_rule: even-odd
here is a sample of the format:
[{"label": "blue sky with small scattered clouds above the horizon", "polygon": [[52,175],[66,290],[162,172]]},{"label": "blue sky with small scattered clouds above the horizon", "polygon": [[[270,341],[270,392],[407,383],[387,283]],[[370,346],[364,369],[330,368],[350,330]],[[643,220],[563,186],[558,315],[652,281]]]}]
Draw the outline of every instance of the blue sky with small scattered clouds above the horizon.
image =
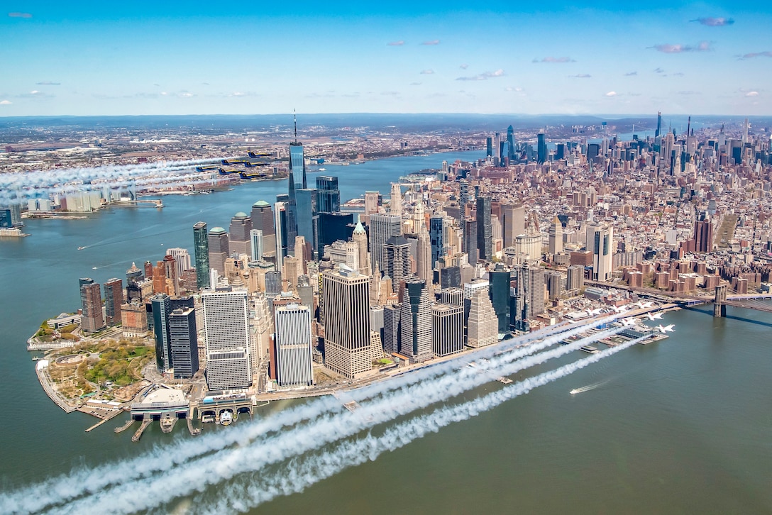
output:
[{"label": "blue sky with small scattered clouds above the horizon", "polygon": [[0,116],[772,114],[772,6],[4,2]]}]

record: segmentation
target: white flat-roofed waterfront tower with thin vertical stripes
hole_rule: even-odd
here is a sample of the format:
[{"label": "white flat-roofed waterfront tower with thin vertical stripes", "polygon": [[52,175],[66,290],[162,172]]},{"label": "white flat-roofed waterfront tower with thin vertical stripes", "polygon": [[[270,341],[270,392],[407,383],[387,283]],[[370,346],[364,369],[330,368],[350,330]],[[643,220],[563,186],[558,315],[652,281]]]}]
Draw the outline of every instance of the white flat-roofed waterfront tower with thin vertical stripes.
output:
[{"label": "white flat-roofed waterfront tower with thin vertical stripes", "polygon": [[313,385],[311,314],[307,306],[276,307],[276,382],[279,386]]}]

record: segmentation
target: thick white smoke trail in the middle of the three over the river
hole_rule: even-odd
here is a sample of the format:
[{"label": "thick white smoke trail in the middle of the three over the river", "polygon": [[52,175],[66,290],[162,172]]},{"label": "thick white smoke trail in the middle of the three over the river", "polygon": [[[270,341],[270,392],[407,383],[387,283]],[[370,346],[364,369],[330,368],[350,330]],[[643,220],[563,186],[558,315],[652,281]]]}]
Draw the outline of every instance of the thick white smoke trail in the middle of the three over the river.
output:
[{"label": "thick white smoke trail in the middle of the three over the river", "polygon": [[[541,364],[554,357],[559,357],[568,352],[575,351],[582,345],[598,341],[603,337],[615,334],[622,330],[605,331],[591,337],[574,342],[565,347],[559,347],[552,351],[527,357],[521,361],[496,368],[496,363],[491,361],[489,371],[495,374],[513,374],[536,364]],[[499,358],[497,358],[499,359]],[[504,361],[504,358],[500,358]],[[175,495],[185,495],[194,490],[201,490],[205,486],[216,483],[245,469],[259,469],[270,463],[281,462],[303,452],[318,449],[327,443],[354,435],[367,427],[372,427],[383,422],[425,408],[437,401],[444,401],[456,395],[476,388],[489,381],[487,374],[479,374],[474,369],[462,369],[461,374],[469,375],[460,379],[455,376],[447,378],[447,381],[438,381],[436,384],[421,384],[405,392],[396,392],[394,395],[364,405],[354,413],[344,412],[340,415],[331,415],[317,420],[313,425],[306,425],[288,432],[283,432],[273,438],[266,439],[255,446],[239,447],[228,451],[218,452],[212,456],[186,462],[175,467],[168,473],[161,473],[146,479],[124,483],[114,486],[95,496],[83,500],[76,500],[66,507],[57,508],[63,513],[92,513],[107,509],[106,503],[113,513],[128,513],[133,510],[149,510],[158,504],[168,500],[170,492]],[[206,474],[201,471],[206,470]],[[124,508],[125,507],[125,508]],[[128,511],[120,511],[128,510]]]}]

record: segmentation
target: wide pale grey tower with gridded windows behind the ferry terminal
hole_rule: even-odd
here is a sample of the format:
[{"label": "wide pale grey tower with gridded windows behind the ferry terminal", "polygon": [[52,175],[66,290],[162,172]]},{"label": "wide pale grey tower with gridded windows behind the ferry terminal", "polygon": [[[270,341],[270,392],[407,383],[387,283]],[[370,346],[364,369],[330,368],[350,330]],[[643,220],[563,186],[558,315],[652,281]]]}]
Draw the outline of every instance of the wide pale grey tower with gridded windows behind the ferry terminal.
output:
[{"label": "wide pale grey tower with gridded windows behind the ferry terminal", "polygon": [[206,383],[210,390],[252,384],[249,304],[246,290],[201,293],[206,335]]}]

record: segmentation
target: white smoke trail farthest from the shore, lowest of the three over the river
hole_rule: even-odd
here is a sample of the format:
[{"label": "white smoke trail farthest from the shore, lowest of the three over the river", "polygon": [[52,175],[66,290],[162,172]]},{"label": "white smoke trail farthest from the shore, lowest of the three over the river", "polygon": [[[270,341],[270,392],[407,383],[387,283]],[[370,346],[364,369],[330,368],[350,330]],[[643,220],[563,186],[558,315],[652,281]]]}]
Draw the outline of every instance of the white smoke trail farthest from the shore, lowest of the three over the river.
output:
[{"label": "white smoke trail farthest from the shore, lowest of the three over the river", "polygon": [[[462,422],[483,412],[488,412],[506,401],[527,394],[533,388],[564,378],[581,368],[638,344],[646,338],[641,337],[617,347],[611,347],[599,354],[593,354],[553,371],[544,372],[515,385],[506,386],[473,401],[438,408],[428,415],[411,418],[411,420],[394,425],[386,429],[381,436],[367,435],[367,437],[354,442],[342,442],[334,449],[317,456],[293,460],[289,462],[288,466],[281,469],[281,473],[275,473],[267,478],[261,476],[259,479],[252,479],[246,483],[232,482],[226,484],[218,490],[217,500],[212,501],[211,497],[206,497],[194,500],[193,504],[197,510],[204,513],[245,512],[272,500],[276,496],[301,492],[306,487],[340,473],[344,469],[367,461],[374,461],[383,452],[400,449],[430,432],[438,432],[454,422]],[[250,471],[252,470],[256,469]],[[205,504],[207,500],[208,504]]]}]

